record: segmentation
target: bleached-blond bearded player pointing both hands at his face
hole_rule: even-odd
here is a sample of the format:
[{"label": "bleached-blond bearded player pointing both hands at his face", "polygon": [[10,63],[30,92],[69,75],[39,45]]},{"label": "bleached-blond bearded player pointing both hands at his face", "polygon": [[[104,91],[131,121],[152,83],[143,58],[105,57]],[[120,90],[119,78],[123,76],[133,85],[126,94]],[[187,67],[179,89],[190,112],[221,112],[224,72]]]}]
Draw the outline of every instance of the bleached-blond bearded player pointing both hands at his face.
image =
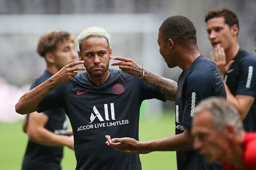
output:
[{"label": "bleached-blond bearded player pointing both hands at his face", "polygon": [[[77,38],[80,61],[66,65],[24,94],[15,107],[20,114],[55,107],[65,109],[74,134],[76,169],[141,169],[138,154],[109,148],[104,135],[138,139],[142,101],[175,97],[176,82],[145,70],[131,59],[117,58],[123,62],[120,68],[130,75],[110,69],[109,39],[102,28],[82,31]],[[75,67],[82,63],[84,67]],[[76,76],[77,70],[85,69],[86,72]]]}]

